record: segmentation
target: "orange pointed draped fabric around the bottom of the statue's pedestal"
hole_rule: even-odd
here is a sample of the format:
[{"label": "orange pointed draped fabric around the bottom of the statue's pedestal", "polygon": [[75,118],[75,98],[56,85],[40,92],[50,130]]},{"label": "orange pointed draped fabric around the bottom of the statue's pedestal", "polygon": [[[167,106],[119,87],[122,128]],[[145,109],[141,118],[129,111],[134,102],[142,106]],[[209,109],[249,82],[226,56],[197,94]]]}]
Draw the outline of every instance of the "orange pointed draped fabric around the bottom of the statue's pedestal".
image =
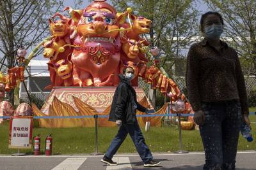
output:
[{"label": "orange pointed draped fabric around the bottom of the statue's pedestal", "polygon": [[[81,115],[109,115],[111,105],[106,108],[102,113],[98,113],[92,106],[84,103],[77,97],[73,96],[74,103],[76,104],[76,111],[72,106],[67,103],[63,103],[54,97],[51,106],[49,107],[49,116],[81,116]],[[142,106],[147,107],[148,103],[147,97],[143,97],[139,102]],[[153,114],[164,114],[166,112],[167,103]],[[32,104],[33,111],[36,116],[47,116],[42,111],[40,111],[35,104]],[[143,115],[141,111],[136,112],[137,115]],[[138,122],[140,126],[145,126],[146,122],[150,122],[151,126],[161,125],[163,117],[138,117]],[[54,118],[54,119],[39,119],[40,127],[47,128],[59,128],[59,127],[94,127],[94,118]],[[109,122],[108,118],[98,119],[99,127],[114,127],[115,122]]]}]

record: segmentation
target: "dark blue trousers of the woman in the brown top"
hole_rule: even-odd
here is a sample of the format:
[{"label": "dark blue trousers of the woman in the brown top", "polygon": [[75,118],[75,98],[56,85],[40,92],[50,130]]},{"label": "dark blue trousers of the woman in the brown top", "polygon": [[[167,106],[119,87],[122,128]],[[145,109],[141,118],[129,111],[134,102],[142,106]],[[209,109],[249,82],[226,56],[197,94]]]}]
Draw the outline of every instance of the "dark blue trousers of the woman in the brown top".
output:
[{"label": "dark blue trousers of the woman in the brown top", "polygon": [[200,125],[204,169],[235,169],[241,106],[239,101],[202,103],[205,123]]}]

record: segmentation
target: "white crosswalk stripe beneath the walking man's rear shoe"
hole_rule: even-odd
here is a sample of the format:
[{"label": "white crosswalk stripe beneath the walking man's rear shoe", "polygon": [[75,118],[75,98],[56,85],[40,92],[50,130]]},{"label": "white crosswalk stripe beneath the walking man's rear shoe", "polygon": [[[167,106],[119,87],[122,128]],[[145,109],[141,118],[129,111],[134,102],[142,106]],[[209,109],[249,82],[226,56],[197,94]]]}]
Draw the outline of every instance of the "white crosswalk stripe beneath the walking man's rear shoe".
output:
[{"label": "white crosswalk stripe beneath the walking man's rear shoe", "polygon": [[113,157],[113,162],[117,162],[117,166],[107,166],[106,170],[112,170],[112,169],[122,169],[122,170],[131,170],[132,165],[129,160],[129,157]]}]

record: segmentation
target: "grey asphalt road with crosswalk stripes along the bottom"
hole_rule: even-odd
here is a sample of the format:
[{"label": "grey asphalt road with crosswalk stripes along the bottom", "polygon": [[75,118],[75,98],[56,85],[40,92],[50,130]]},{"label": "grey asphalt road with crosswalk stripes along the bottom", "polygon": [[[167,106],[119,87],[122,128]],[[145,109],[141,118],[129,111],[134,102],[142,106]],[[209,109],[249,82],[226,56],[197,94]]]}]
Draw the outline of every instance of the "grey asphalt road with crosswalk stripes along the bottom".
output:
[{"label": "grey asphalt road with crosswalk stripes along the bottom", "polygon": [[[27,155],[14,157],[11,155],[0,155],[0,169],[202,169],[204,164],[204,153],[155,153],[154,159],[161,160],[158,167],[143,167],[138,154],[118,154],[113,159],[117,161],[118,166],[106,166],[100,162],[102,156],[93,155],[53,155],[45,157],[44,155]],[[237,153],[237,169],[256,169],[256,152]]]}]

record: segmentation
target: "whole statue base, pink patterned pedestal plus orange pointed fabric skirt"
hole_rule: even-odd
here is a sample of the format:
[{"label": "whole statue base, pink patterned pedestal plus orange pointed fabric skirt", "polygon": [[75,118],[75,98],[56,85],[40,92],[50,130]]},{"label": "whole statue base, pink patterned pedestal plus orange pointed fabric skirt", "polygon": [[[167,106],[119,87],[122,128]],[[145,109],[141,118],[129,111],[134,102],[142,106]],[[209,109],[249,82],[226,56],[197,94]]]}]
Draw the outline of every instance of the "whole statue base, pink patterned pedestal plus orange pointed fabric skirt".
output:
[{"label": "whole statue base, pink patterned pedestal plus orange pointed fabric skirt", "polygon": [[[112,99],[116,87],[54,87],[47,97],[44,106],[39,110],[32,104],[33,112],[36,116],[84,116],[84,115],[109,115]],[[138,102],[148,107],[148,102],[143,90],[134,87]],[[156,114],[164,114],[167,104]],[[152,106],[150,106],[152,108]],[[136,115],[145,113],[137,110]],[[147,121],[152,126],[161,125],[162,117],[138,117],[140,125],[144,126]],[[60,127],[94,127],[93,118],[53,118],[38,120],[40,127],[60,128]],[[115,122],[109,122],[108,118],[99,118],[99,127],[113,127]]]}]

